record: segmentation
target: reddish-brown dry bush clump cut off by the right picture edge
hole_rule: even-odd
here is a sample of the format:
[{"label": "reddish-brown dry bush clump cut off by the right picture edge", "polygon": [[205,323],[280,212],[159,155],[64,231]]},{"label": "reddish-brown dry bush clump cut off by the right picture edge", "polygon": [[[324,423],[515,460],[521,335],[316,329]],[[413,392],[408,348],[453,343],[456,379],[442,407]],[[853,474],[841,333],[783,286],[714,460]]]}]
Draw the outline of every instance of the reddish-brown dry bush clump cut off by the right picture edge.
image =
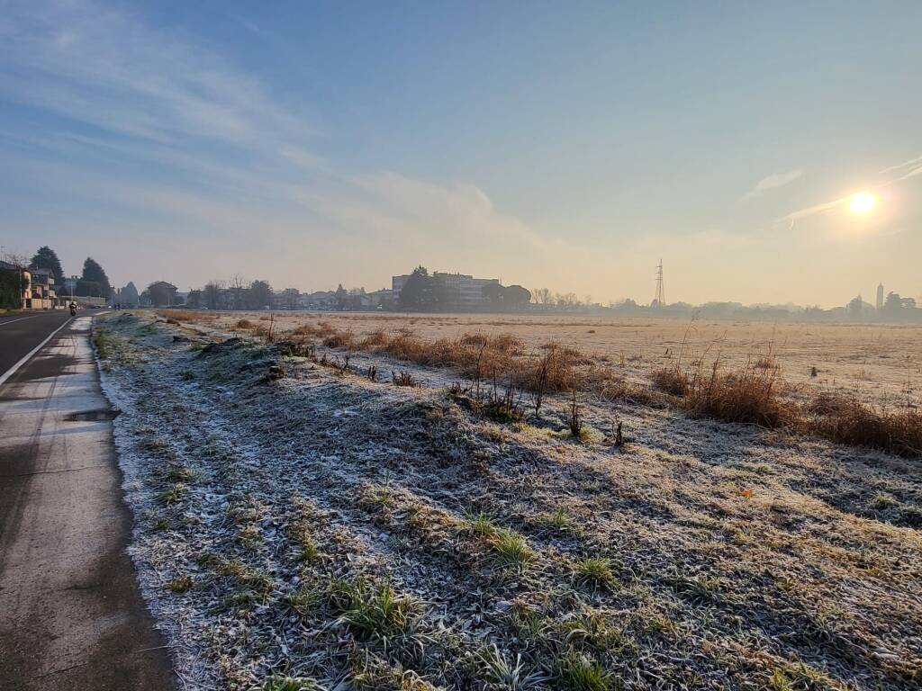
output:
[{"label": "reddish-brown dry bush clump cut off by the right picture edge", "polygon": [[922,456],[922,413],[910,408],[877,410],[854,398],[822,393],[811,402],[808,429],[852,446],[913,458]]}]

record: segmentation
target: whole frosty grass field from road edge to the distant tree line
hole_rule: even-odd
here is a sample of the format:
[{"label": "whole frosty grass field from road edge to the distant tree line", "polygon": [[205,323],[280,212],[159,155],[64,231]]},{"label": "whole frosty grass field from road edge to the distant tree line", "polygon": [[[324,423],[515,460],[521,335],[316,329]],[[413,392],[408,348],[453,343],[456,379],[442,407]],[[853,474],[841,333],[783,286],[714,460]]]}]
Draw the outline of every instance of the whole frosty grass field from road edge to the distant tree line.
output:
[{"label": "whole frosty grass field from road edge to the distant tree line", "polygon": [[915,448],[691,416],[651,381],[717,349],[790,378],[785,405],[905,406],[917,330],[696,324],[682,347],[665,322],[266,316],[112,314],[95,337],[133,556],[187,687],[922,679]]}]

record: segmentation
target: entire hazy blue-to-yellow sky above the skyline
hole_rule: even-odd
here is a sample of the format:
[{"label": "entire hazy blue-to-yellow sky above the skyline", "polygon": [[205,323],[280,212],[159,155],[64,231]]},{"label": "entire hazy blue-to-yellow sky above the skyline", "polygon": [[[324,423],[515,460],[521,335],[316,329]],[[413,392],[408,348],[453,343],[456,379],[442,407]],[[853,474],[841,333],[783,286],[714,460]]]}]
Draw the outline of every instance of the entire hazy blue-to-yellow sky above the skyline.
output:
[{"label": "entire hazy blue-to-yellow sky above the skyline", "polygon": [[[0,0],[0,244],[188,290],[922,293],[922,3]],[[869,213],[850,210],[855,193]]]}]

